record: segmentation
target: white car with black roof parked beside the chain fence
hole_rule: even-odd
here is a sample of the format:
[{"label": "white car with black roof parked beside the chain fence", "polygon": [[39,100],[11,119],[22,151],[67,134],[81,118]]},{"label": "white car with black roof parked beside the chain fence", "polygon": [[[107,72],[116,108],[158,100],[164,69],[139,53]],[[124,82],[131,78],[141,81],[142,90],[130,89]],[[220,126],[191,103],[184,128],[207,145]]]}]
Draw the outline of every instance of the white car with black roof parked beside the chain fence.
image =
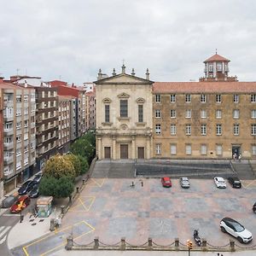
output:
[{"label": "white car with black roof parked beside the chain fence", "polygon": [[225,217],[220,221],[220,229],[224,233],[229,233],[237,238],[240,242],[249,242],[253,240],[253,235],[249,230],[246,230],[243,225],[233,218]]}]

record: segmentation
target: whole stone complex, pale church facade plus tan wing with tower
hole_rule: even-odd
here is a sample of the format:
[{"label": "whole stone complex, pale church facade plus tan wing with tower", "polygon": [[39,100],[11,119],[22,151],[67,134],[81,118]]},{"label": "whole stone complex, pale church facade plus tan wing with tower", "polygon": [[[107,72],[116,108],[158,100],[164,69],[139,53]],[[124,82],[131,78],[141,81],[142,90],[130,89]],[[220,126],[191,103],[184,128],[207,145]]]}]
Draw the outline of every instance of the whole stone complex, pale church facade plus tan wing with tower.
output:
[{"label": "whole stone complex, pale church facade plus tan wing with tower", "polygon": [[212,55],[199,82],[99,73],[98,158],[256,159],[256,82],[230,77],[229,62]]}]

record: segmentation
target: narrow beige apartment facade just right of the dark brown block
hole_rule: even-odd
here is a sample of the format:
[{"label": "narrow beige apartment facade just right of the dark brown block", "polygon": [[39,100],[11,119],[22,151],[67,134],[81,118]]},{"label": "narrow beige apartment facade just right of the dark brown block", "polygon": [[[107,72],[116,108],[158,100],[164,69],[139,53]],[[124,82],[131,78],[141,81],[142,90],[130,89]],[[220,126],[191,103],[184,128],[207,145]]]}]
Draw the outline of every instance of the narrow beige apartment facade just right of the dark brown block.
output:
[{"label": "narrow beige apartment facade just right of the dark brown block", "polygon": [[69,151],[71,141],[71,104],[73,98],[72,96],[58,96],[58,99],[58,151],[65,154]]}]

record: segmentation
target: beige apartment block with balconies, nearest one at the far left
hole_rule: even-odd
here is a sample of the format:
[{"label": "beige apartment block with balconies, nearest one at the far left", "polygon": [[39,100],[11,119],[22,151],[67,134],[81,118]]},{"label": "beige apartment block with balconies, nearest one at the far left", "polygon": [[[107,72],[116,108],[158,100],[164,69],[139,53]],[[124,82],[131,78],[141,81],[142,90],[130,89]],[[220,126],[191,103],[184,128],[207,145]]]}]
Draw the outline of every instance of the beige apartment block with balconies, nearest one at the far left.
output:
[{"label": "beige apartment block with balconies, nearest one at the far left", "polygon": [[31,177],[36,160],[35,90],[0,80],[4,194]]}]

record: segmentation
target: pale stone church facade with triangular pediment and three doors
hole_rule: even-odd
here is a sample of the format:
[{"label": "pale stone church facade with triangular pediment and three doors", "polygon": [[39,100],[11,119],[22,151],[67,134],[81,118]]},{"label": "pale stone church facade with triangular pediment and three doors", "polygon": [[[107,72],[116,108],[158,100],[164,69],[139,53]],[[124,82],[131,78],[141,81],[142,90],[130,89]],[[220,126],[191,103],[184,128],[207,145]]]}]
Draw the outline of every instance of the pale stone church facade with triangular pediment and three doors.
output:
[{"label": "pale stone church facade with triangular pediment and three doors", "polygon": [[122,73],[96,84],[96,154],[99,159],[149,159],[152,155],[152,84]]}]

